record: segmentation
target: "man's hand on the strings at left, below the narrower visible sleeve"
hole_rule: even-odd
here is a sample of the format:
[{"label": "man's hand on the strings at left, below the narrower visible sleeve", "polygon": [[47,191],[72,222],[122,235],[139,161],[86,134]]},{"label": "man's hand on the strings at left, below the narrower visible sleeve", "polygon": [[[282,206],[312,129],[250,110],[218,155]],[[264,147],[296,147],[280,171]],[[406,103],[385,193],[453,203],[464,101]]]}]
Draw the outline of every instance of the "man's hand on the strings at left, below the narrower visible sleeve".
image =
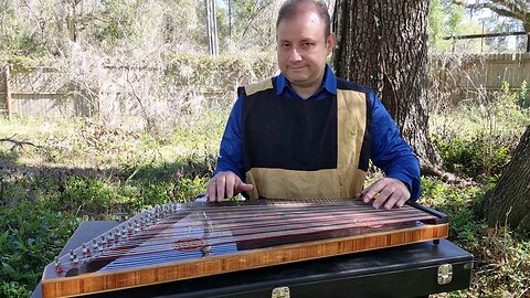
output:
[{"label": "man's hand on the strings at left, below the narrower visible sleeve", "polygon": [[241,181],[233,172],[219,172],[208,182],[206,195],[210,202],[221,202],[225,198],[232,198],[240,192],[251,191],[254,187]]}]

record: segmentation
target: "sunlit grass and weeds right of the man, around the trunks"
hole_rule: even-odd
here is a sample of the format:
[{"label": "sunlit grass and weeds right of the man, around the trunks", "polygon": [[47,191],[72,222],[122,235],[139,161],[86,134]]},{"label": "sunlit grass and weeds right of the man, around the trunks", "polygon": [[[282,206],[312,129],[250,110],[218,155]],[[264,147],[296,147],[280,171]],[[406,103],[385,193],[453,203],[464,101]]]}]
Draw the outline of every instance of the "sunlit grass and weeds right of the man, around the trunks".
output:
[{"label": "sunlit grass and weeds right of the man, around the trunks", "polygon": [[476,205],[495,187],[510,160],[530,109],[517,106],[505,93],[497,102],[462,106],[431,115],[433,140],[447,171],[468,179],[451,185],[423,179],[423,203],[451,216],[449,238],[475,256],[469,290],[439,297],[528,297],[530,295],[530,237],[485,224]]}]

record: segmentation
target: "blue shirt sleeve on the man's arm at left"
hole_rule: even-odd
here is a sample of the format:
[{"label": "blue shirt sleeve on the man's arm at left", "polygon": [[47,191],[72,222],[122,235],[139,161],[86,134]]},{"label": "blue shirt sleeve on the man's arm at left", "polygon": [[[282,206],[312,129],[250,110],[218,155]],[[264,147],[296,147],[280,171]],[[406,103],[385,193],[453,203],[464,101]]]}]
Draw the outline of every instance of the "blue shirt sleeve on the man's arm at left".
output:
[{"label": "blue shirt sleeve on the man's arm at left", "polygon": [[224,129],[221,148],[219,150],[218,166],[213,174],[221,171],[232,171],[245,181],[243,163],[243,134],[241,127],[241,113],[243,97],[240,96],[230,113],[226,128]]}]

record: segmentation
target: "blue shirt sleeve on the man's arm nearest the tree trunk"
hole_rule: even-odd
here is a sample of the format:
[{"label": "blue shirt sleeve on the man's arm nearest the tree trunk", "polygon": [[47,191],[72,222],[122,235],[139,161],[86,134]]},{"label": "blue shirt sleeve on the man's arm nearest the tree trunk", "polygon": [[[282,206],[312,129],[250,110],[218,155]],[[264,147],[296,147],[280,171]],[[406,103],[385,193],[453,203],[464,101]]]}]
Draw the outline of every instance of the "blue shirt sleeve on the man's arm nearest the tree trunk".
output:
[{"label": "blue shirt sleeve on the man's arm nearest the tree trunk", "polygon": [[421,195],[420,161],[401,137],[400,129],[373,92],[370,93],[370,99],[372,103],[371,159],[386,177],[405,183],[411,191],[411,201],[415,202]]}]

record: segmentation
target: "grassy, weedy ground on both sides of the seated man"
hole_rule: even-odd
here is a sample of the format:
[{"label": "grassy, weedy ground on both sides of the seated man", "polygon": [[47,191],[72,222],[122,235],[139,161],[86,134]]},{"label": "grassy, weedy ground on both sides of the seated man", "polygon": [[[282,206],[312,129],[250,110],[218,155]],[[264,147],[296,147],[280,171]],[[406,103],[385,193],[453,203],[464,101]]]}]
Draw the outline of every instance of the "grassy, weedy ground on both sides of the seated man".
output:
[{"label": "grassy, weedy ground on both sides of the seated man", "polygon": [[[433,139],[446,169],[474,182],[422,181],[421,202],[451,216],[449,240],[476,258],[470,289],[439,297],[529,292],[528,235],[487,226],[475,212],[530,123],[528,110],[491,109],[495,126],[484,123],[488,114],[480,108],[432,115]],[[0,119],[0,138],[15,134],[17,140],[46,148],[11,150],[12,143],[0,143],[0,297],[26,297],[81,221],[114,220],[202,193],[226,116],[226,110],[190,116],[163,134],[109,128],[86,119]]]}]

